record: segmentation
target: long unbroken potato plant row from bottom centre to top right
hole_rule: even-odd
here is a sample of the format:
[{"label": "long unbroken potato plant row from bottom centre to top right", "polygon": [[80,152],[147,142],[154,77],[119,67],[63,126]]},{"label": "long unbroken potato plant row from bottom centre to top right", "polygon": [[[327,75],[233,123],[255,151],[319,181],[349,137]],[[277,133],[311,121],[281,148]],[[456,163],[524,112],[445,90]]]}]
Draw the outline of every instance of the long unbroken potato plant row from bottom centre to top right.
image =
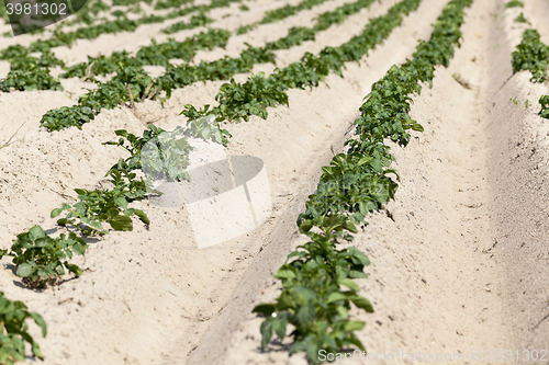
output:
[{"label": "long unbroken potato plant row from bottom centre to top right", "polygon": [[[401,2],[402,3],[402,2]],[[260,304],[254,311],[266,317],[261,324],[265,349],[273,333],[280,339],[292,326],[290,354],[305,351],[310,363],[318,364],[318,351],[336,353],[363,346],[354,331],[363,322],[349,320],[350,304],[373,311],[368,299],[358,295],[354,278],[366,277],[368,258],[354,247],[337,249],[341,240],[351,241],[356,225],[366,223],[369,212],[382,208],[396,190],[386,174],[394,157],[384,145],[391,138],[406,146],[406,130],[423,130],[410,118],[411,95],[421,92],[421,82],[432,85],[437,65],[448,66],[453,46],[459,46],[463,9],[472,0],[452,0],[438,18],[428,42],[419,42],[412,60],[393,66],[372,85],[355,122],[358,139],[347,141],[349,150],[334,157],[323,168],[318,187],[310,196],[306,210],[298,218],[300,232],[311,241],[289,254],[276,274],[282,293],[272,304]],[[341,289],[345,287],[345,289]]]}]

